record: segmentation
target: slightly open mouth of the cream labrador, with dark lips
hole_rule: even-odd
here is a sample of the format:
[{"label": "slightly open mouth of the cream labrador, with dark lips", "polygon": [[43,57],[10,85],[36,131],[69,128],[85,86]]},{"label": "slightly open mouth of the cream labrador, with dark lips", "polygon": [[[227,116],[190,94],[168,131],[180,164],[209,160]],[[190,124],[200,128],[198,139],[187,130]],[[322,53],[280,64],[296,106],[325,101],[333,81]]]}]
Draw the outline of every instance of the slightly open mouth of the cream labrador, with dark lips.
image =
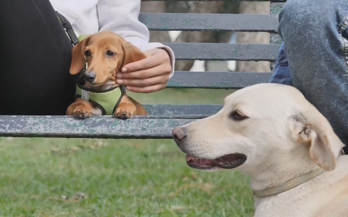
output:
[{"label": "slightly open mouth of the cream labrador, with dark lips", "polygon": [[224,155],[215,159],[199,159],[193,156],[186,156],[187,165],[195,169],[209,170],[214,167],[232,169],[242,165],[246,156],[240,153]]}]

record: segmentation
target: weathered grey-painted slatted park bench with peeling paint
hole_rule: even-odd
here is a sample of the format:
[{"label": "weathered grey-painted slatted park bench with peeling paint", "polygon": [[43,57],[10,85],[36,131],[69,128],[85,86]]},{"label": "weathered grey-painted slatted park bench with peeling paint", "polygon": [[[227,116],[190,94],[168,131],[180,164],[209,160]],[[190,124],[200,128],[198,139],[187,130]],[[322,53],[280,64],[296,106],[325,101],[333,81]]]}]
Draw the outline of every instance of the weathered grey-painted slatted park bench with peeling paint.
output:
[{"label": "weathered grey-painted slatted park bench with peeling paint", "polygon": [[[142,13],[139,19],[150,30],[158,31],[269,32],[271,33],[270,44],[165,44],[173,49],[177,60],[264,60],[272,62],[276,59],[281,43],[281,39],[276,33],[277,14],[285,1],[272,0],[269,15]],[[177,71],[169,80],[167,88],[240,89],[257,83],[266,83],[270,76],[271,72]],[[149,116],[135,116],[128,120],[120,120],[111,116],[92,117],[84,120],[68,116],[0,116],[0,136],[167,139],[172,137],[171,131],[174,127],[213,115],[220,110],[221,105],[145,105],[145,108],[148,110]]]}]

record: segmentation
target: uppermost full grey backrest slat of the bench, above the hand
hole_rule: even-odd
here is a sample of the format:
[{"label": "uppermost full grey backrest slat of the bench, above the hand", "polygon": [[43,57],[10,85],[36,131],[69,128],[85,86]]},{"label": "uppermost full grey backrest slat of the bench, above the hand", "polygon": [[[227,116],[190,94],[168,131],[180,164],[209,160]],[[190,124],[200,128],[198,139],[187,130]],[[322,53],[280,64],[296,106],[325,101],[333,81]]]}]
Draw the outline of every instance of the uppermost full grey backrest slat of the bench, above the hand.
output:
[{"label": "uppermost full grey backrest slat of the bench, above the hand", "polygon": [[277,15],[249,14],[140,14],[149,30],[275,32]]}]

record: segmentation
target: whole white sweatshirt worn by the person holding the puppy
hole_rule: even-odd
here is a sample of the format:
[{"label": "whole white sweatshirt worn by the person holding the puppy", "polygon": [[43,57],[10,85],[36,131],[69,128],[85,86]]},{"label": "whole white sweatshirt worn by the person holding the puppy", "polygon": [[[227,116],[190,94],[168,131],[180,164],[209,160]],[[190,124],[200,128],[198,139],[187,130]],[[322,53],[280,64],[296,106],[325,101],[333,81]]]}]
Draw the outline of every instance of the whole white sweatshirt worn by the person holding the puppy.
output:
[{"label": "whole white sweatshirt worn by the person holding the puppy", "polygon": [[174,72],[174,53],[161,43],[149,43],[149,30],[139,21],[140,0],[50,0],[53,8],[72,25],[77,35],[112,31],[146,51],[165,49]]}]

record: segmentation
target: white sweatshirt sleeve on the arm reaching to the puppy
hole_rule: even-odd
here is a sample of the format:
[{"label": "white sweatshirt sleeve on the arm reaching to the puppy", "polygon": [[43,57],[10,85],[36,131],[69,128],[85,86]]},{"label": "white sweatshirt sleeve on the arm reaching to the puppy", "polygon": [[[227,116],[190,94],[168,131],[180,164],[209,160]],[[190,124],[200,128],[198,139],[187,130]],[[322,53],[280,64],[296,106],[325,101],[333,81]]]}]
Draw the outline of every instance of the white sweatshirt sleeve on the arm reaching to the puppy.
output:
[{"label": "white sweatshirt sleeve on the arm reaching to the puppy", "polygon": [[112,31],[142,51],[163,48],[171,58],[174,73],[174,53],[161,43],[149,43],[149,30],[139,21],[141,0],[99,0],[97,4],[99,31]]}]

